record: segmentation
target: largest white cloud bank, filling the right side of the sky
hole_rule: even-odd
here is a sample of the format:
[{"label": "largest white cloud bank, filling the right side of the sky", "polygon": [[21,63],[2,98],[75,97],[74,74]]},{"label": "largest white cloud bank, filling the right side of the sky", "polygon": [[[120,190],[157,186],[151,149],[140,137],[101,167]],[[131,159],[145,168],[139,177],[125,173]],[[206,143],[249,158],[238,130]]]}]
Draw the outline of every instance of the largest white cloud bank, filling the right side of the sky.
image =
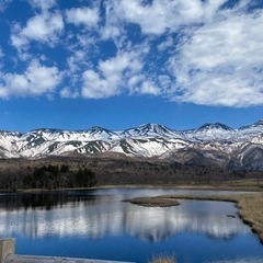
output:
[{"label": "largest white cloud bank, filling the right side of the sky", "polygon": [[205,105],[263,104],[263,12],[222,14],[179,46],[172,96]]}]

